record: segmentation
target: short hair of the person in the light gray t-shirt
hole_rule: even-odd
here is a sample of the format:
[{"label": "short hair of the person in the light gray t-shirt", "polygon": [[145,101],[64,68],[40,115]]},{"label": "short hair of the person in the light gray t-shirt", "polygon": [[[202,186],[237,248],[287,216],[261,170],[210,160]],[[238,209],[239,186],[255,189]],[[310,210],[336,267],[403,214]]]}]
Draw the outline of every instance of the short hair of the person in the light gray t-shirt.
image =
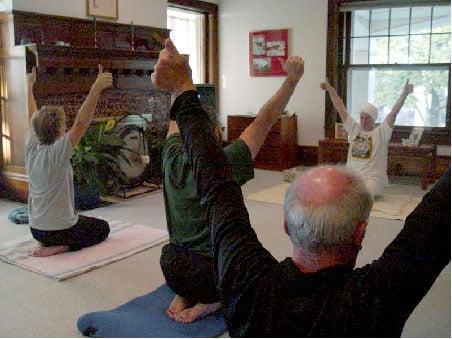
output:
[{"label": "short hair of the person in the light gray t-shirt", "polygon": [[43,106],[33,116],[32,128],[41,144],[51,145],[65,127],[65,113],[60,106]]}]

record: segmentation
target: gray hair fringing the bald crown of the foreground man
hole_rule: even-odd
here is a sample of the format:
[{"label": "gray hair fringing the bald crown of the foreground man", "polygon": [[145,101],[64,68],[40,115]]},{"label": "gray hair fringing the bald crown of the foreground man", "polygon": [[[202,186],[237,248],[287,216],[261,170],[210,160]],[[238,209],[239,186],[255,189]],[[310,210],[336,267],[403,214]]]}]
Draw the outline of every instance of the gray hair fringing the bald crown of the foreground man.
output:
[{"label": "gray hair fringing the bald crown of the foreground man", "polygon": [[[346,167],[336,167],[350,179],[343,197],[320,206],[305,203],[295,191],[302,174],[288,188],[284,201],[284,215],[289,236],[295,247],[313,254],[333,253],[352,242],[359,222],[369,219],[372,195],[363,180]],[[306,174],[306,173],[305,173]]]}]

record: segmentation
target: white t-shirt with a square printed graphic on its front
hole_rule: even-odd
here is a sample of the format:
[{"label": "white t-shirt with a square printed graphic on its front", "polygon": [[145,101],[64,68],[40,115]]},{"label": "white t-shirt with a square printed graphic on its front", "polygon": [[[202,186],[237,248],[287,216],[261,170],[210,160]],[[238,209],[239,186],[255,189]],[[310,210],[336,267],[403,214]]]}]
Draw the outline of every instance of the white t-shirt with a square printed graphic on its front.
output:
[{"label": "white t-shirt with a square printed graphic on its front", "polygon": [[372,178],[384,185],[388,184],[388,144],[393,129],[383,121],[372,131],[363,131],[350,116],[344,123],[350,147],[347,167],[365,178]]}]

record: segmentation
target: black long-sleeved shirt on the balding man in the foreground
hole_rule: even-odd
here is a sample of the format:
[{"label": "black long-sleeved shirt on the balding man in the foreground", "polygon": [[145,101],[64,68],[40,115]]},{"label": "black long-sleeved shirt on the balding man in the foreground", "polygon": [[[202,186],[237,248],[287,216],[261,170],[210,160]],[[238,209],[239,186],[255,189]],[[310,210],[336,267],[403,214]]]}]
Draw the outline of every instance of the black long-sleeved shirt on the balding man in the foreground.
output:
[{"label": "black long-sleeved shirt on the balding man in the foreground", "polygon": [[383,255],[359,269],[302,273],[278,262],[250,226],[240,187],[208,128],[196,92],[176,118],[208,211],[216,283],[231,336],[396,337],[450,261],[450,170],[408,216]]}]

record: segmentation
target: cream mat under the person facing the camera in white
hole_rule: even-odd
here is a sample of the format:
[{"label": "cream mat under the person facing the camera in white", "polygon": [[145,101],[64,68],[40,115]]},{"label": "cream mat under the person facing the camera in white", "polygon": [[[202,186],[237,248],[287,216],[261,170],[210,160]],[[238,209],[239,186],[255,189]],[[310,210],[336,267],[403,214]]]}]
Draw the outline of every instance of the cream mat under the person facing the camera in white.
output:
[{"label": "cream mat under the person facing the camera in white", "polygon": [[[267,188],[263,191],[247,196],[248,200],[266,202],[270,204],[284,203],[284,194],[289,183]],[[421,202],[422,197],[403,194],[384,194],[374,201],[370,215],[375,218],[404,220]]]}]

